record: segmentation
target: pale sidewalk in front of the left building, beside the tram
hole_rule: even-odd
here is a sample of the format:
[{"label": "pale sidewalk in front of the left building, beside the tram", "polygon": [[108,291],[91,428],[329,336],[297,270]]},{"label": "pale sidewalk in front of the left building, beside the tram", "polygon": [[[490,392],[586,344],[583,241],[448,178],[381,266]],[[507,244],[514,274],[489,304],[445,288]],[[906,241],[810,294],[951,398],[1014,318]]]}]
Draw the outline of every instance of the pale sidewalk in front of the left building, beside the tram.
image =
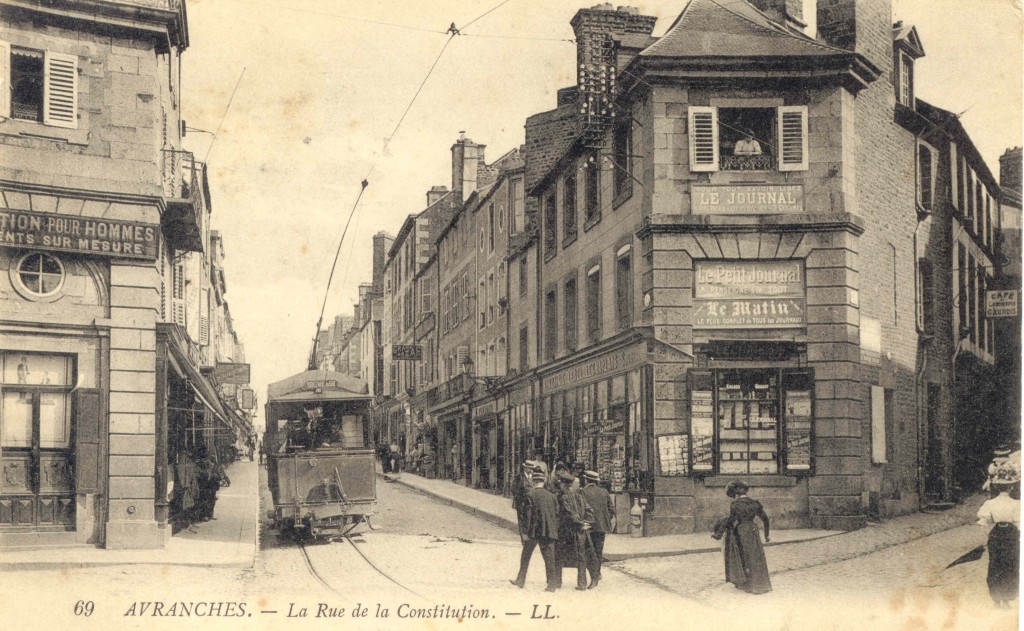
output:
[{"label": "pale sidewalk in front of the left building, beside the tram", "polygon": [[0,551],[0,571],[154,564],[249,567],[256,554],[258,469],[241,460],[227,468],[231,486],[217,493],[216,517],[174,535],[154,550],[106,550],[92,545],[8,548]]}]

